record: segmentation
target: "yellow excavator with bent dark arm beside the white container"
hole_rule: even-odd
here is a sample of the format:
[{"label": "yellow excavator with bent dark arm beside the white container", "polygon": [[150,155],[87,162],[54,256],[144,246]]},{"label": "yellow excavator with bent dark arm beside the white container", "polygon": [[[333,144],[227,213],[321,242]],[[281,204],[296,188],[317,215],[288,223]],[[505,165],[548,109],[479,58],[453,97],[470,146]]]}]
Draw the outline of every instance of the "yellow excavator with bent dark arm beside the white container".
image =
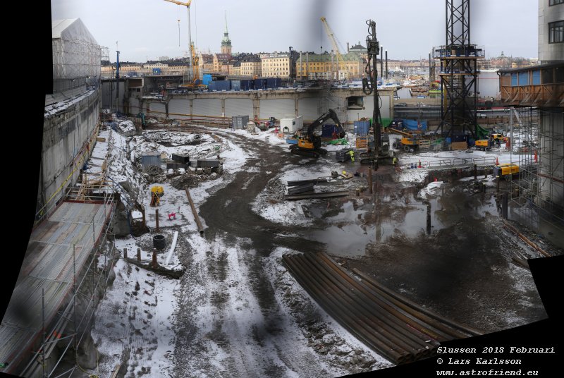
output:
[{"label": "yellow excavator with bent dark arm beside the white container", "polygon": [[302,129],[302,133],[300,137],[298,137],[298,143],[290,145],[290,151],[293,154],[314,157],[316,159],[319,155],[327,154],[327,150],[321,148],[321,133],[317,133],[316,129],[323,126],[323,123],[329,118],[335,122],[338,138],[344,138],[345,129],[343,128],[343,125],[341,125],[341,121],[339,121],[336,112],[333,109],[329,109],[329,111],[313,121],[311,125],[307,126],[305,131]]}]

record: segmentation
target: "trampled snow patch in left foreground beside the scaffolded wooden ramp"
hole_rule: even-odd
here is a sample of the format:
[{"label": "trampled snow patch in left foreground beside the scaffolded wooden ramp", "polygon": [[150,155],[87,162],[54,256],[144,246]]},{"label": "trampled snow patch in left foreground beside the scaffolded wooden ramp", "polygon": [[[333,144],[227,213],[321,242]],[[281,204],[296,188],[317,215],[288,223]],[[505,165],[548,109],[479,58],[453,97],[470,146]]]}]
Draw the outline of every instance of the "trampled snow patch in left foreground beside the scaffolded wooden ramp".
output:
[{"label": "trampled snow patch in left foreground beside the scaffolded wooden ramp", "polygon": [[[116,240],[133,255],[136,240]],[[118,363],[126,377],[171,377],[174,291],[178,281],[118,260],[116,279],[95,314],[92,338],[99,352],[97,374],[109,377]]]}]

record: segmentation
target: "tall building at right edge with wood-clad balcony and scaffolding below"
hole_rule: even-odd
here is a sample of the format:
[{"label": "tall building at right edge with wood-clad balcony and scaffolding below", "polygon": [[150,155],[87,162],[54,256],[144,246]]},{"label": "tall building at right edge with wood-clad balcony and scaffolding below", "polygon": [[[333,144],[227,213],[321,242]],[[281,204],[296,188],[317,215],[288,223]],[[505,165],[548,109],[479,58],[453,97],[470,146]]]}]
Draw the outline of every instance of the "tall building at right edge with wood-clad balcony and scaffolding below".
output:
[{"label": "tall building at right edge with wood-clad balcony and scaffolding below", "polygon": [[563,247],[551,236],[564,232],[564,0],[539,0],[539,63],[498,71],[521,138],[512,143],[520,177],[509,217]]}]

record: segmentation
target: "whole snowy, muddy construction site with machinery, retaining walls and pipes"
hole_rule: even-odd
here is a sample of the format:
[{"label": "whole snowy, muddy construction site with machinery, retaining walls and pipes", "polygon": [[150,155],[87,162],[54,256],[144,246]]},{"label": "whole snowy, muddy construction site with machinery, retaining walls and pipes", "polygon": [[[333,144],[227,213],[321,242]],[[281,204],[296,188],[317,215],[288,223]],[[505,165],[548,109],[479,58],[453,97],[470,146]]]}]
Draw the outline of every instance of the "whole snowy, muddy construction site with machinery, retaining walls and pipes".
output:
[{"label": "whole snowy, muddy construction site with machinery, retaining walls and pipes", "polygon": [[109,49],[53,21],[0,372],[340,377],[546,319],[527,261],[564,255],[564,55],[498,71],[508,111],[480,123],[470,2],[445,1],[429,122],[379,87],[377,20],[362,87],[203,92],[192,71],[164,96],[101,80]]}]

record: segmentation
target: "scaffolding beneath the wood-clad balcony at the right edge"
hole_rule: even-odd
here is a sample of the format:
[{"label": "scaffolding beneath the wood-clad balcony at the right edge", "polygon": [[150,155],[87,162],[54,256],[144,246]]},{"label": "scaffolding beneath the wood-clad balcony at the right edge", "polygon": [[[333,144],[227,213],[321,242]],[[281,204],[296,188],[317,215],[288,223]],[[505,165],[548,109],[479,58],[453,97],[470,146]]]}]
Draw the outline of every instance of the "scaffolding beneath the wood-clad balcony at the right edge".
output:
[{"label": "scaffolding beneath the wood-clad balcony at the right edge", "polygon": [[[560,114],[560,115],[559,115]],[[520,224],[541,231],[546,224],[564,233],[564,206],[555,199],[564,195],[564,129],[562,108],[515,106],[510,109],[511,147],[517,154],[520,178],[510,183],[512,212]]]}]

